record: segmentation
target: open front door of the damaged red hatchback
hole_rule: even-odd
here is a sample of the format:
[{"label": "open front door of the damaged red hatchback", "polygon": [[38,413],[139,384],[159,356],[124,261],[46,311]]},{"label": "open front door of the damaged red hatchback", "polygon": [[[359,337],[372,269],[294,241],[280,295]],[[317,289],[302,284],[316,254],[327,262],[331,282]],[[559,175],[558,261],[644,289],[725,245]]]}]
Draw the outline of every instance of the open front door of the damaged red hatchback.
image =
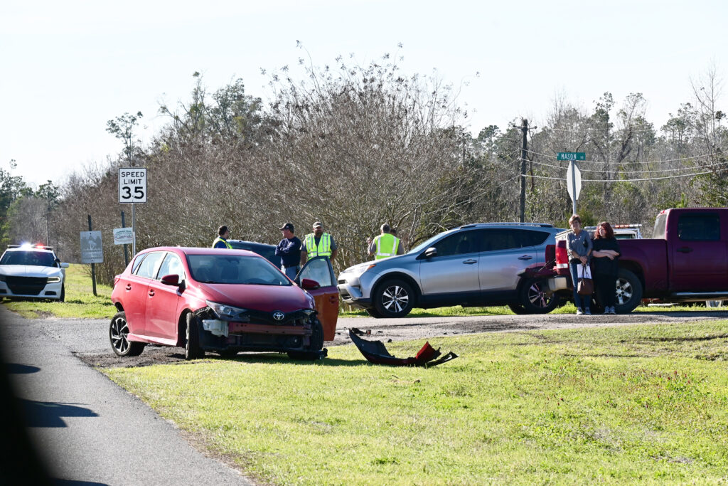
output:
[{"label": "open front door of the damaged red hatchback", "polygon": [[306,289],[316,301],[318,318],[323,326],[323,340],[333,341],[336,335],[336,321],[339,319],[339,289],[336,287],[336,276],[333,274],[331,261],[325,256],[309,259],[296,275],[296,283],[309,278],[319,284],[317,289]]}]

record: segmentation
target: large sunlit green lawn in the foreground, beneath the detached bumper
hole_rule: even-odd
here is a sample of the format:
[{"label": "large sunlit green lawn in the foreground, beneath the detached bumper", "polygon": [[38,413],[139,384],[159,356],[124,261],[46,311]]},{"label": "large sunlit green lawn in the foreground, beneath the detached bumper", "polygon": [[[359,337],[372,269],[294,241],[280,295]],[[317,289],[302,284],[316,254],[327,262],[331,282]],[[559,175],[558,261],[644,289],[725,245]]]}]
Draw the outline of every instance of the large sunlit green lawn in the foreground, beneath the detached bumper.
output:
[{"label": "large sunlit green lawn in the foreground, beneath the detached bumper", "polygon": [[[728,321],[433,338],[105,369],[210,452],[291,485],[726,484]],[[392,342],[411,356],[422,342]]]}]

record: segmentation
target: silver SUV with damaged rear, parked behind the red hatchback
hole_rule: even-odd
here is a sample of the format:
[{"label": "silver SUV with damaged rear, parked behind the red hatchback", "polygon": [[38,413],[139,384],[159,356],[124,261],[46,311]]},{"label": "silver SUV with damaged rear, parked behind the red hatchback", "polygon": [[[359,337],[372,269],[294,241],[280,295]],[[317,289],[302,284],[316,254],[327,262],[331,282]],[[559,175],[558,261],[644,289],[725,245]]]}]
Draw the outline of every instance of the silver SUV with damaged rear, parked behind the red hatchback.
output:
[{"label": "silver SUV with damaged rear, parked behind the red hatchback", "polygon": [[563,230],[550,224],[466,224],[435,235],[407,254],[365,262],[339,275],[339,294],[373,317],[403,317],[413,307],[508,305],[548,313],[558,297],[527,269],[542,267]]}]

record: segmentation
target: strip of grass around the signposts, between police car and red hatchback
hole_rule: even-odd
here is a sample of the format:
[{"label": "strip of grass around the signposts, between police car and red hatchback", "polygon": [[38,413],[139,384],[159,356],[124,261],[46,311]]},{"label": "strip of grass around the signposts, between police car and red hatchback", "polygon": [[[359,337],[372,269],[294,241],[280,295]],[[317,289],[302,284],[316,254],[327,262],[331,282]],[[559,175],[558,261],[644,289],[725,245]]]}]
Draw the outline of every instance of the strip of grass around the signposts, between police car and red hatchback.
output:
[{"label": "strip of grass around the signposts, between police car and red hatchback", "polygon": [[87,265],[71,264],[66,269],[66,302],[52,300],[4,300],[3,305],[23,317],[108,318],[116,313],[111,304],[111,287],[96,285],[86,272]]}]

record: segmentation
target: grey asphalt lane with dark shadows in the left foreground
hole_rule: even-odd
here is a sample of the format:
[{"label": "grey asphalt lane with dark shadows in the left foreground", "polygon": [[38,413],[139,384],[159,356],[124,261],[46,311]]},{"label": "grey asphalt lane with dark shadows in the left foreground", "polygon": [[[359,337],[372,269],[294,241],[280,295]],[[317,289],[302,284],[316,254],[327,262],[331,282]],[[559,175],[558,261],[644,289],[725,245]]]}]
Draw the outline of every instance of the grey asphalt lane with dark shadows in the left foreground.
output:
[{"label": "grey asphalt lane with dark shadows in the left foreground", "polygon": [[102,321],[28,320],[0,306],[0,322],[28,431],[59,484],[254,484],[202,455],[173,424],[74,356],[111,353]]}]

